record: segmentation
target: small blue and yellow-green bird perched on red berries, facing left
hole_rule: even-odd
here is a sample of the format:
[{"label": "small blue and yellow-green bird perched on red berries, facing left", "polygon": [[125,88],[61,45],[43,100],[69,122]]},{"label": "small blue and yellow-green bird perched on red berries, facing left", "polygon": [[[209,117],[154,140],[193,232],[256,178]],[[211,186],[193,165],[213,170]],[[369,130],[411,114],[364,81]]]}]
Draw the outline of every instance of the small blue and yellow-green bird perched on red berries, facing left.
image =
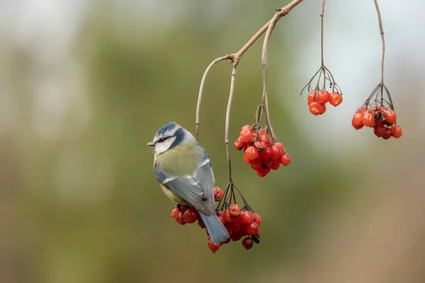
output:
[{"label": "small blue and yellow-green bird perched on red berries, facing left", "polygon": [[154,173],[165,195],[198,210],[212,243],[226,241],[229,233],[215,214],[214,175],[205,149],[176,122],[164,125],[147,145],[154,146]]}]

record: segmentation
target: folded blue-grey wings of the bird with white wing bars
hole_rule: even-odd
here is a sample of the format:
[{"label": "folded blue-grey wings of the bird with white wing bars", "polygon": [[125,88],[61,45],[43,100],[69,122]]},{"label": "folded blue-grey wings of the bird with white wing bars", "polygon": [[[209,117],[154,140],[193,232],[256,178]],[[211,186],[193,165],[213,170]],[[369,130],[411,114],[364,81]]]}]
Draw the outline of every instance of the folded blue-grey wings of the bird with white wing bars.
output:
[{"label": "folded blue-grey wings of the bird with white wing bars", "polygon": [[213,200],[214,180],[208,156],[200,163],[198,170],[193,175],[168,175],[162,172],[158,166],[154,166],[154,171],[157,180],[162,185],[192,204],[200,212],[205,215],[215,212]]}]

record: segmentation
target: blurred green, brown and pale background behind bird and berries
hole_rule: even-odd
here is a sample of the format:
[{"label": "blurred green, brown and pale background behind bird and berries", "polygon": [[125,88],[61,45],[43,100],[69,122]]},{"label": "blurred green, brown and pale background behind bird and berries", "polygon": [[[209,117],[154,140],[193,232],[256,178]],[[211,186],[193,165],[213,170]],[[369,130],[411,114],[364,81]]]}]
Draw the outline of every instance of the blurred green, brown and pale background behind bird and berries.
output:
[{"label": "blurred green, brown and pale background behind bird and berries", "polygon": [[[261,243],[210,253],[179,226],[145,144],[166,122],[195,130],[198,87],[288,1],[0,1],[0,282],[425,282],[423,1],[382,1],[385,82],[401,139],[355,131],[380,79],[372,0],[327,1],[325,64],[344,103],[310,114],[320,1],[282,18],[268,51],[271,121],[290,166],[259,178],[232,148]],[[262,37],[261,37],[262,38]],[[261,99],[261,42],[239,64],[233,141]],[[227,183],[231,67],[206,81],[200,143]]]}]

